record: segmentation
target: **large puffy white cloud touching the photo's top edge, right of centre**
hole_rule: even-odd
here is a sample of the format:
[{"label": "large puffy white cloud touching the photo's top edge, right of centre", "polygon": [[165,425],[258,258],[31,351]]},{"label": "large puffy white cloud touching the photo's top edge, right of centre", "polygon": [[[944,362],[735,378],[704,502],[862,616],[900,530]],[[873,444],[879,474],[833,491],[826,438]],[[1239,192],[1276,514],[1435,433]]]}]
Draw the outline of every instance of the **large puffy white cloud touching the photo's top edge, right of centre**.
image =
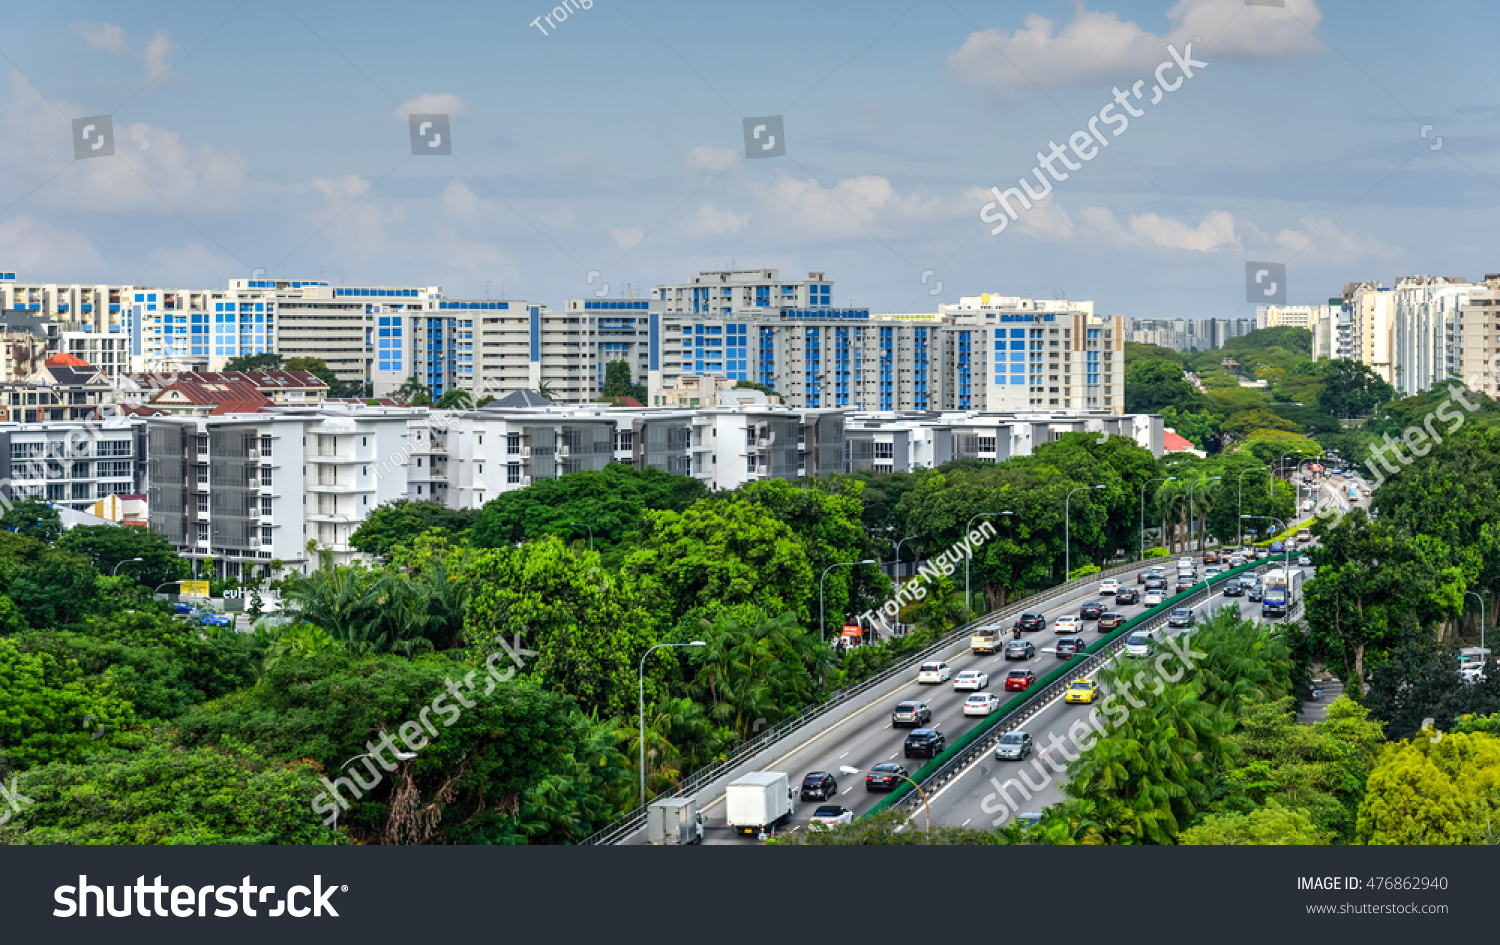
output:
[{"label": "large puffy white cloud touching the photo's top edge, right of centre", "polygon": [[[1083,9],[1058,28],[1041,14],[1014,33],[998,27],[970,33],[948,54],[962,81],[1011,99],[1029,87],[1108,84],[1144,78],[1172,62],[1168,45],[1214,63],[1220,58],[1282,58],[1316,51],[1323,14],[1317,0],[1286,0],[1286,8],[1248,6],[1245,0],[1180,0],[1167,12],[1172,28],[1156,36],[1113,12]],[[1179,76],[1178,69],[1168,76]]]}]

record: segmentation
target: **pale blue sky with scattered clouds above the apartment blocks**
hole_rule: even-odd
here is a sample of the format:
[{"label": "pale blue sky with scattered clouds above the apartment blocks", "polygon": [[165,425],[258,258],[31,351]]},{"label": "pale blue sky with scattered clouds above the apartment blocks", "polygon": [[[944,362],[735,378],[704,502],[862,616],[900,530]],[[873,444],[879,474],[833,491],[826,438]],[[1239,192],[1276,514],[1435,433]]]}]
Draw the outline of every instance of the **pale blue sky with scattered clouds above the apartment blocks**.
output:
[{"label": "pale blue sky with scattered clouds above the apartment blocks", "polygon": [[[1287,264],[1293,303],[1500,272],[1492,4],[594,0],[543,36],[550,9],[12,4],[0,268],[555,308],[735,264],[878,312],[990,291],[1138,316],[1252,314],[1246,261]],[[1206,68],[990,236],[992,186],[1186,42]],[[412,111],[453,114],[452,156],[411,154]],[[98,114],[116,156],[74,160]],[[786,156],[744,158],[753,116],[784,116]]]}]

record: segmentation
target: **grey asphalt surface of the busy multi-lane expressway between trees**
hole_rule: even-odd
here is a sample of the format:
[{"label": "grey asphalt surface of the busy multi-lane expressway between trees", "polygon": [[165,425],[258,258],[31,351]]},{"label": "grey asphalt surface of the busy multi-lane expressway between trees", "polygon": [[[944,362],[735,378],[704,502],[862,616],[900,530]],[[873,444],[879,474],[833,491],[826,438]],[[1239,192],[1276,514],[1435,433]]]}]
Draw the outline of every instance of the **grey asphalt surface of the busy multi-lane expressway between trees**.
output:
[{"label": "grey asphalt surface of the busy multi-lane expressway between trees", "polygon": [[[1168,568],[1170,561],[1172,560],[1162,560]],[[1268,561],[1263,564],[1269,566],[1270,562]],[[1131,585],[1136,582],[1136,573],[1131,572],[1122,574],[1119,579],[1124,584]],[[1052,651],[1053,642],[1058,636],[1060,636],[1052,632],[1052,621],[1054,618],[1065,614],[1077,615],[1078,608],[1089,600],[1102,600],[1106,603],[1106,609],[1119,610],[1128,618],[1143,612],[1142,604],[1116,606],[1108,598],[1101,598],[1096,591],[1096,586],[1076,590],[1070,594],[1053,597],[1041,608],[1036,608],[1046,614],[1048,620],[1046,630],[1023,634],[1023,639],[1030,640],[1036,646],[1036,656],[1030,660],[1006,660],[1004,652],[972,654],[968,648],[963,648],[962,644],[958,644],[954,646],[954,651],[948,654],[946,662],[952,668],[954,675],[966,669],[987,672],[990,675],[990,688],[987,692],[993,692],[1005,700],[1014,694],[1005,692],[1006,670],[1028,668],[1035,670],[1040,678],[1058,666],[1059,660]],[[1245,602],[1244,597],[1224,598],[1222,592],[1215,590],[1209,600],[1197,604],[1198,620],[1206,618],[1212,609],[1221,604],[1227,603],[1230,606],[1239,606],[1242,602]],[[1260,604],[1250,604],[1244,608],[1244,614],[1258,620]],[[1006,626],[1004,627],[1005,633],[1002,634],[1002,639],[1008,642],[1011,636],[1008,624],[1011,621],[1005,622]],[[1100,636],[1102,636],[1098,632],[1095,621],[1080,621],[1077,634],[1083,636],[1089,644],[1094,644],[1100,639]],[[963,702],[969,696],[969,692],[954,692],[952,682],[940,682],[936,686],[918,684],[915,676],[916,674],[914,670],[912,681],[898,692],[878,702],[872,702],[832,729],[807,742],[802,742],[789,753],[776,759],[772,764],[762,765],[762,770],[784,771],[794,788],[801,784],[802,776],[807,772],[828,771],[838,780],[838,796],[837,800],[830,800],[826,802],[842,804],[854,810],[855,814],[867,812],[885,795],[866,790],[864,771],[868,771],[880,762],[896,762],[908,768],[908,771],[915,772],[927,764],[927,759],[914,758],[908,760],[903,758],[903,747],[909,729],[891,726],[891,710],[896,708],[897,702],[920,700],[932,706],[933,720],[928,728],[940,730],[946,736],[948,744],[952,744],[970,728],[984,722],[982,717],[963,716]],[[1059,736],[1065,735],[1074,722],[1086,718],[1088,714],[1088,705],[1065,705],[1059,698],[1041,714],[1030,718],[1026,723],[1026,730],[1036,740],[1038,752],[1041,752],[1048,744],[1048,736],[1053,732],[1059,734]],[[1058,758],[1056,760],[1059,766],[1065,765],[1062,758]],[[861,774],[842,774],[840,768],[843,766],[858,768]],[[975,764],[969,771],[964,771],[962,777],[948,782],[940,790],[928,795],[932,801],[933,822],[970,826],[988,825],[998,816],[981,810],[981,806],[994,810],[993,800],[986,802],[986,796],[994,792],[994,784],[990,782],[990,777],[996,774],[996,770],[1000,770],[1002,774],[999,780],[1005,782],[1011,777],[1006,770],[1014,766],[1016,762],[996,762],[992,753],[984,760]],[[1029,770],[1032,768],[1029,760],[1026,762],[1026,766]],[[1030,777],[1034,783],[1040,780],[1035,771]],[[1060,782],[1054,780],[1046,784],[1042,790],[1030,792],[1032,796],[1024,802],[1024,810],[1041,810],[1047,804],[1060,800],[1062,795],[1059,789]],[[807,818],[819,804],[820,801],[800,801],[790,824],[782,830],[806,830]],[[754,838],[740,837],[729,830],[724,822],[724,804],[722,796],[706,806],[704,816],[708,828],[705,837],[706,843],[754,843]],[[918,824],[921,824],[922,814],[918,813],[916,816]]]}]

